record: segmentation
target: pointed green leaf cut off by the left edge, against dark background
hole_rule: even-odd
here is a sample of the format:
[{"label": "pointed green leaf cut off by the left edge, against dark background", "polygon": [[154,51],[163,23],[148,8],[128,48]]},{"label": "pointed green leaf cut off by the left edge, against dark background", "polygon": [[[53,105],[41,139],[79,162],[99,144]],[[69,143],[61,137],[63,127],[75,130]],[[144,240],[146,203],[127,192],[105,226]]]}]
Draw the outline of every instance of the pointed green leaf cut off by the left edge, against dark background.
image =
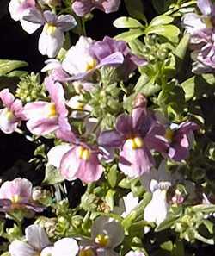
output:
[{"label": "pointed green leaf cut off by the left edge, against dark background", "polygon": [[0,76],[4,76],[9,72],[24,66],[28,66],[28,63],[25,61],[0,59]]}]

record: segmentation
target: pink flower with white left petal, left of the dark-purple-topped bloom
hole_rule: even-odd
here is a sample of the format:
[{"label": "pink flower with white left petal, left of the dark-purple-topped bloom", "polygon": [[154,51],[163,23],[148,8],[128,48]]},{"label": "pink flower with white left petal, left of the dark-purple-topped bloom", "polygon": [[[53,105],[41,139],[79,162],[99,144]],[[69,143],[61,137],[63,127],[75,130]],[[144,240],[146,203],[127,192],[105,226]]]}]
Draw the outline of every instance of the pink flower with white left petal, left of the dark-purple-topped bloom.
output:
[{"label": "pink flower with white left petal, left of the dark-purple-topped bloom", "polygon": [[77,141],[72,145],[53,147],[48,153],[48,162],[57,167],[65,179],[79,178],[84,183],[90,183],[101,178],[103,167],[99,161],[100,154],[99,150]]}]

